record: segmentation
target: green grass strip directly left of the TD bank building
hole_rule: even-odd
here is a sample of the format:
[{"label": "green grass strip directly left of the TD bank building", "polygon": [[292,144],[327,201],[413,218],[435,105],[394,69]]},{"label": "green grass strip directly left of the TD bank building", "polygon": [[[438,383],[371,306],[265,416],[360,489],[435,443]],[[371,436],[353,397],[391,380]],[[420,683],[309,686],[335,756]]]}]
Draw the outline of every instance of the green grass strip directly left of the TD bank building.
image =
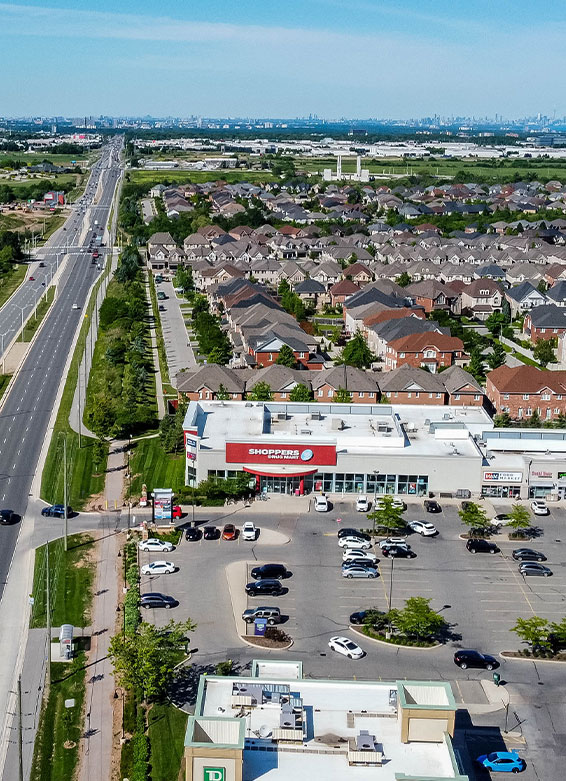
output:
[{"label": "green grass strip directly left of the TD bank building", "polygon": [[181,768],[187,714],[173,705],[154,705],[148,713],[152,781],[176,779]]}]

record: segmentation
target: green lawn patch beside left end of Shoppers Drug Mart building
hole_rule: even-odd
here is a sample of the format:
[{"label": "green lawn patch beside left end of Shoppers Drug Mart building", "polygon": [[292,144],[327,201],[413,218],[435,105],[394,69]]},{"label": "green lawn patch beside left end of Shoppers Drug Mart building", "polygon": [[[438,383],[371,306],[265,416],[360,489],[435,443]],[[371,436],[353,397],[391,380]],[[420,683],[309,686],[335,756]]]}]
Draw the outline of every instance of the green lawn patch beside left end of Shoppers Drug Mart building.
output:
[{"label": "green lawn patch beside left end of Shoppers Drug Mart building", "polygon": [[142,483],[147,485],[148,491],[154,488],[178,491],[185,484],[185,459],[182,452],[177,456],[166,453],[158,437],[139,439],[132,444],[132,496],[141,494]]}]

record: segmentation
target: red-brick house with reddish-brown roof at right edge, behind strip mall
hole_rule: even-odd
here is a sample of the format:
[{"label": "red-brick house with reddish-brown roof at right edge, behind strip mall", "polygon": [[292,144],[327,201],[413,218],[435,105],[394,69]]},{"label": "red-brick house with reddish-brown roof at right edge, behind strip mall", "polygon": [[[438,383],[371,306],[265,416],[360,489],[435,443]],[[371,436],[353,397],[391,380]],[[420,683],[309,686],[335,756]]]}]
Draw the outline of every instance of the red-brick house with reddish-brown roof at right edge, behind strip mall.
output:
[{"label": "red-brick house with reddish-brown roof at right edge, behind strip mall", "polygon": [[536,410],[542,420],[554,420],[566,413],[566,372],[500,366],[487,375],[486,394],[497,413],[521,420]]}]

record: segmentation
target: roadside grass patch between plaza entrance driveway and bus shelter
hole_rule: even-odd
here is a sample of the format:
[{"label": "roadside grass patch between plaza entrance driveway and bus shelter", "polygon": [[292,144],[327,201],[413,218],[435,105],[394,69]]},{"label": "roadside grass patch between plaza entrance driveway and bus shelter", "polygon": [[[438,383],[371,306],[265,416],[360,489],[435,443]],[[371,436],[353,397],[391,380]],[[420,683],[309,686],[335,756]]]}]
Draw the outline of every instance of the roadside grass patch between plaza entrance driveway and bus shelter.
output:
[{"label": "roadside grass patch between plaza entrance driveway and bus shelter", "polygon": [[[72,524],[73,520],[70,519],[70,528]],[[68,538],[67,552],[63,548],[62,539],[49,544],[52,626],[88,626],[95,571],[91,555],[93,546],[94,540],[90,534],[72,534]],[[30,619],[32,629],[47,625],[45,581],[46,547],[42,545],[35,551],[34,604]]]}]

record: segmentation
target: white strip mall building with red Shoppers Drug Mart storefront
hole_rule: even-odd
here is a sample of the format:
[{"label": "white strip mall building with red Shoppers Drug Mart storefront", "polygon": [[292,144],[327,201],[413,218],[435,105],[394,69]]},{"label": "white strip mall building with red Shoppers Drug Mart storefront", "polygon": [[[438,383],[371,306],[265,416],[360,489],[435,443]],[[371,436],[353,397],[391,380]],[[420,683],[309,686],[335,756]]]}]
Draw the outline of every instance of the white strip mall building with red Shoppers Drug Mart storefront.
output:
[{"label": "white strip mall building with red Shoppers Drug Mart storefront", "polygon": [[184,431],[187,485],[566,498],[566,432],[494,429],[481,407],[192,401]]}]

